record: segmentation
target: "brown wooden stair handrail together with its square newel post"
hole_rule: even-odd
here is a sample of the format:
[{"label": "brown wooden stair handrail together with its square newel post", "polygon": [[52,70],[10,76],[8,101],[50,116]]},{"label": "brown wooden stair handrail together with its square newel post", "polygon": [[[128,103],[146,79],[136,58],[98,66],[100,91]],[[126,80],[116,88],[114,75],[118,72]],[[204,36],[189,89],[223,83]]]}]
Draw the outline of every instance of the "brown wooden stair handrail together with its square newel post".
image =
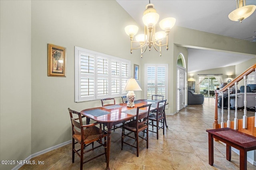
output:
[{"label": "brown wooden stair handrail together with its square newel post", "polygon": [[232,80],[229,84],[224,86],[224,88],[222,88],[221,90],[215,90],[215,115],[214,115],[214,123],[213,123],[214,129],[218,129],[218,93],[225,92],[226,90],[228,90],[228,88],[234,86],[236,82],[239,82],[240,80],[242,80],[244,76],[249,75],[255,69],[256,69],[256,64],[252,65],[250,68],[245,70],[242,74],[237,76],[234,80]]}]

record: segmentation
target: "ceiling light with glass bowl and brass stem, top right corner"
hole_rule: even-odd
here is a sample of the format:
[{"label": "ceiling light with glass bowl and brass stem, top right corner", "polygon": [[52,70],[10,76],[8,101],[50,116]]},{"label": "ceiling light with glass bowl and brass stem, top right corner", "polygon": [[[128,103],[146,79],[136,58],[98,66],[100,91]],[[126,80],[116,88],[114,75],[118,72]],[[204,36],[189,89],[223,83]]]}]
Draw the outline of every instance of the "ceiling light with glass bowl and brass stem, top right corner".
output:
[{"label": "ceiling light with glass bowl and brass stem, top right corner", "polygon": [[232,21],[240,21],[248,18],[255,11],[255,5],[245,5],[245,0],[237,0],[236,10],[230,12],[228,18]]}]

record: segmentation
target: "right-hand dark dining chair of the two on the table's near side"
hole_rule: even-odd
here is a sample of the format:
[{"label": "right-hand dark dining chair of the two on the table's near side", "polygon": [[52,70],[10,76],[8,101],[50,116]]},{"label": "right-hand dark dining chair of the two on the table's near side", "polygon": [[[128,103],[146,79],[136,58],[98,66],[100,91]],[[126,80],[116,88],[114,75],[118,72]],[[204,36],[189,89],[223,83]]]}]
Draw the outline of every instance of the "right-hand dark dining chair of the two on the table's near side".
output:
[{"label": "right-hand dark dining chair of the two on the table's near side", "polygon": [[[166,100],[162,100],[157,102],[156,105],[156,113],[150,114],[148,119],[151,121],[149,125],[152,125],[152,130],[148,130],[150,132],[156,133],[156,139],[158,139],[158,131],[159,129],[163,129],[163,135],[164,135],[164,122],[165,122],[165,105]],[[160,122],[161,121],[161,125]],[[156,125],[154,124],[156,122]],[[154,131],[154,127],[156,127],[156,131]]]}]

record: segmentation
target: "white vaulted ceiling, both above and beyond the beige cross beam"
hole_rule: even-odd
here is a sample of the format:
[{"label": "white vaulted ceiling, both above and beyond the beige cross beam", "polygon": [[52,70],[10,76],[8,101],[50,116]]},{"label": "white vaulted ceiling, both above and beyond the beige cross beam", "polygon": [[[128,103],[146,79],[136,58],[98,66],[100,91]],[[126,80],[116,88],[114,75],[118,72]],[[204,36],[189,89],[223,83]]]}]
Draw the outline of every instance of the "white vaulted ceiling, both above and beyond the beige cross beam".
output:
[{"label": "white vaulted ceiling, both above and beyond the beige cross beam", "polygon": [[[142,16],[148,0],[116,0],[120,6],[134,18],[138,25],[143,26]],[[231,21],[228,14],[236,9],[236,0],[150,0],[154,4],[160,19],[167,17],[176,18],[175,25],[205,31],[218,35],[224,35],[239,39],[245,39],[256,35],[256,11],[242,23]],[[256,0],[246,0],[246,5],[256,5]],[[249,38],[243,41],[252,41]],[[255,43],[256,48],[256,42]],[[216,61],[220,57],[226,62]],[[188,72],[208,70],[224,66],[231,66],[254,58],[255,55],[241,55],[219,51],[188,48]],[[206,64],[204,61],[207,61]],[[200,63],[200,68],[198,68]],[[196,67],[197,66],[197,67]]]}]

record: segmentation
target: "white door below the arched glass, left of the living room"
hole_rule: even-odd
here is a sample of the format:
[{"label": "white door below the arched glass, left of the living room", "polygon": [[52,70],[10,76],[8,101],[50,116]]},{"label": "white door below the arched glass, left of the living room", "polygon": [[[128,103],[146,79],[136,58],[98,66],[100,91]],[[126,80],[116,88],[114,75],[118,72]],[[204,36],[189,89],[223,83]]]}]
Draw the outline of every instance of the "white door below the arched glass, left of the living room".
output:
[{"label": "white door below the arched glass, left of the living room", "polygon": [[185,106],[185,80],[186,70],[177,67],[177,112]]}]

